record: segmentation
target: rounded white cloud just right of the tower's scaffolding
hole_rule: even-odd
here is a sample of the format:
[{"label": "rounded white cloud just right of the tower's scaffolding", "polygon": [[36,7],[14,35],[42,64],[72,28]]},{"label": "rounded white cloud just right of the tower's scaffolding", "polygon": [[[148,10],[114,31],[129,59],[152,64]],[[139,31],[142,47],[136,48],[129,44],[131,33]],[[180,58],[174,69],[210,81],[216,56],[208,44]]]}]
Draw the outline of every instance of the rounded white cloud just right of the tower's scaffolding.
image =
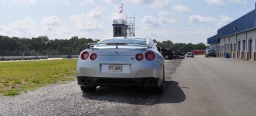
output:
[{"label": "rounded white cloud just right of the tower's scaffolding", "polygon": [[161,26],[160,22],[156,18],[148,15],[144,16],[142,24],[145,29],[154,29]]}]

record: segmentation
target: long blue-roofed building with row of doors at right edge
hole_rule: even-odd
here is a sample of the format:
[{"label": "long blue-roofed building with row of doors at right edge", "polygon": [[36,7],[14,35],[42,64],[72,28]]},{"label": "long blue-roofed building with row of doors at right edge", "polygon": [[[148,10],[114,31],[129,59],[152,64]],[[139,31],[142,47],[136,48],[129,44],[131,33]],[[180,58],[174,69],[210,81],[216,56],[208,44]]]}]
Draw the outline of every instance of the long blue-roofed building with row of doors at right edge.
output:
[{"label": "long blue-roofed building with row of doors at right edge", "polygon": [[215,36],[207,39],[207,43],[216,50],[218,57],[228,54],[231,58],[255,61],[256,10],[218,29]]}]

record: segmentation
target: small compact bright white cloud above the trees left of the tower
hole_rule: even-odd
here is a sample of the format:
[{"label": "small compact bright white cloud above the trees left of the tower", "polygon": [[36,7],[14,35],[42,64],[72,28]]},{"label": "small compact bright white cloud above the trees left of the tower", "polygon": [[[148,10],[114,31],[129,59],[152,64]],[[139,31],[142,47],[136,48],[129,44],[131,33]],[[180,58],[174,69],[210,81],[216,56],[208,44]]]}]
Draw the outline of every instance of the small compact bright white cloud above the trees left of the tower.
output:
[{"label": "small compact bright white cloud above the trees left of the tower", "polygon": [[45,25],[58,25],[61,24],[61,22],[62,21],[57,16],[45,16],[44,19],[41,21],[41,23]]}]

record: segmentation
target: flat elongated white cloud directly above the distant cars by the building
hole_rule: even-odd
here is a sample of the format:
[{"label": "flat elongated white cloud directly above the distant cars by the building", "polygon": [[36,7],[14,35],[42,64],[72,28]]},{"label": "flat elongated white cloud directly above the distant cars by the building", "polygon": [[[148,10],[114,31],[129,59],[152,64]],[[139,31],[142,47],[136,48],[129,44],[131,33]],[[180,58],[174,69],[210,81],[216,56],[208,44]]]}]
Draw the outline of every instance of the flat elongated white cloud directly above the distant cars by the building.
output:
[{"label": "flat elongated white cloud directly above the distant cars by the building", "polygon": [[191,15],[189,17],[189,22],[191,23],[209,23],[209,22],[214,22],[216,18],[214,17],[203,17],[200,15]]}]

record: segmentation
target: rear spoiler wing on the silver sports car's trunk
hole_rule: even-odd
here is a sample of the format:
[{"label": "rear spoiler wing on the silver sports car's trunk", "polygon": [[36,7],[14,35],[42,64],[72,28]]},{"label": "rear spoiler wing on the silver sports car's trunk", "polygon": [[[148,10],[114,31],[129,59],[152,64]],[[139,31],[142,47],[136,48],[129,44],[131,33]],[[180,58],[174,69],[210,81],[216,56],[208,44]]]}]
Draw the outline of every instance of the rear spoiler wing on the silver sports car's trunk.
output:
[{"label": "rear spoiler wing on the silver sports car's trunk", "polygon": [[95,45],[116,45],[116,48],[118,48],[118,45],[131,45],[135,47],[141,47],[141,46],[147,46],[146,48],[138,48],[138,49],[147,49],[152,48],[147,44],[138,44],[138,43],[88,43],[86,46],[86,49],[92,49]]}]

